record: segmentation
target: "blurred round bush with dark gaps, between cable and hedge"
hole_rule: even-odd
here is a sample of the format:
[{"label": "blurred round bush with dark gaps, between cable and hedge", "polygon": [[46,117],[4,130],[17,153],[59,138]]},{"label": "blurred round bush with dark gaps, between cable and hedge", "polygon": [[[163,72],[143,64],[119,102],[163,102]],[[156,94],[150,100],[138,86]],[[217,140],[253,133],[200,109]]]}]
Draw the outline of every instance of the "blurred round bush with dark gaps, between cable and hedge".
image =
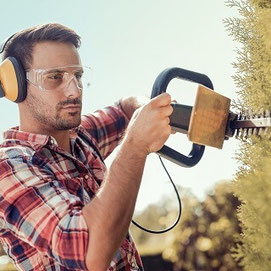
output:
[{"label": "blurred round bush with dark gaps, between cable and hedge", "polygon": [[241,270],[231,256],[235,236],[240,233],[239,204],[230,183],[216,185],[203,202],[192,203],[193,211],[188,208],[189,213],[174,231],[172,244],[164,251],[164,256],[175,262],[175,271]]}]

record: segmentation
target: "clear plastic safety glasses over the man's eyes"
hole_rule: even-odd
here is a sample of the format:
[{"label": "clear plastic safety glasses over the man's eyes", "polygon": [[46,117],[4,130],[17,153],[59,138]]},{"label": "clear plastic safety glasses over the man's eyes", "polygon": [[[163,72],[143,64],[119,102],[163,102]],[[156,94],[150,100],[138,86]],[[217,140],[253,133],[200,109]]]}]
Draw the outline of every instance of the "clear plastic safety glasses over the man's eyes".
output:
[{"label": "clear plastic safety glasses over the man's eyes", "polygon": [[50,69],[30,69],[26,71],[28,82],[40,90],[64,90],[71,83],[83,90],[90,86],[91,68],[81,65],[62,66]]}]

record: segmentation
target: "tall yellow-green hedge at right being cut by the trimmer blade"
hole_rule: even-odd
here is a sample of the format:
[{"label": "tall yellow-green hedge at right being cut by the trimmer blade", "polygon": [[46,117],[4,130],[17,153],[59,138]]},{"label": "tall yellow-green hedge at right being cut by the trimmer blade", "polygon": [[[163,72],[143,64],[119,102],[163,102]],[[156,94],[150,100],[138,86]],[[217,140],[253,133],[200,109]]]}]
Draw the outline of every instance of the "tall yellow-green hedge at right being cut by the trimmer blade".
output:
[{"label": "tall yellow-green hedge at right being cut by the trimmer blade", "polygon": [[[271,108],[271,1],[227,1],[241,18],[229,18],[226,27],[241,44],[233,77],[240,101],[237,106],[254,112]],[[270,116],[270,112],[265,113]],[[242,245],[236,250],[246,271],[271,270],[271,141],[267,135],[241,143],[237,155],[242,166],[234,184],[241,200]]]}]

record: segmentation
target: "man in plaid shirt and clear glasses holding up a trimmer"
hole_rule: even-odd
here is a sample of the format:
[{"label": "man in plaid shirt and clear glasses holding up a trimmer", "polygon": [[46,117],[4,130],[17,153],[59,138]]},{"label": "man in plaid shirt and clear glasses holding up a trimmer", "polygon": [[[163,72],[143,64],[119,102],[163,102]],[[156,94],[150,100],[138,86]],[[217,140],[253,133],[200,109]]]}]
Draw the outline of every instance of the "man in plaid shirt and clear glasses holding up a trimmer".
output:
[{"label": "man in plaid shirt and clear glasses holding up a trimmer", "polygon": [[27,96],[0,145],[0,239],[19,270],[143,270],[128,228],[146,157],[171,133],[171,99],[129,97],[81,117],[79,46],[74,31],[46,24],[5,47]]}]

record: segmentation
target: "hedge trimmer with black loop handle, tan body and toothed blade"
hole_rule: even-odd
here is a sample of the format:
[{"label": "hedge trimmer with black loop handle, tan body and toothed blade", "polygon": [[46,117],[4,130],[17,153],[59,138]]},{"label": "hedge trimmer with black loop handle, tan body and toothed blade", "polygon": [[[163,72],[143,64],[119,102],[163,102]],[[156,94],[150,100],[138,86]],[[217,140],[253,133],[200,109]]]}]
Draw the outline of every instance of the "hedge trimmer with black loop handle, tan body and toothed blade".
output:
[{"label": "hedge trimmer with black loop handle, tan body and toothed blade", "polygon": [[151,98],[166,92],[169,82],[174,78],[199,84],[193,107],[171,104],[172,129],[187,134],[193,146],[188,156],[163,146],[158,151],[160,156],[180,166],[192,167],[202,158],[205,146],[222,149],[225,139],[261,135],[271,127],[270,111],[263,111],[261,114],[230,112],[231,100],[213,91],[213,84],[208,76],[181,68],[168,68],[161,72],[154,82]]}]

